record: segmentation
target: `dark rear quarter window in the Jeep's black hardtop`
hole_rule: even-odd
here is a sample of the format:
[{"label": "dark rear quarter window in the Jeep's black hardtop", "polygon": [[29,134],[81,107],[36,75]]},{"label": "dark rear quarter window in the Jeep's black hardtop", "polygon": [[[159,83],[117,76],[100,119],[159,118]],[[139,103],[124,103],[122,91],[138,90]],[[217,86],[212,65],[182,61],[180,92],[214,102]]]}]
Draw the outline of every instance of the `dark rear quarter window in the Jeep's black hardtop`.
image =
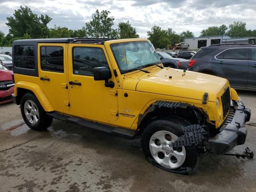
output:
[{"label": "dark rear quarter window in the Jeep's black hardtop", "polygon": [[35,69],[35,51],[32,45],[14,46],[14,64],[18,68]]}]

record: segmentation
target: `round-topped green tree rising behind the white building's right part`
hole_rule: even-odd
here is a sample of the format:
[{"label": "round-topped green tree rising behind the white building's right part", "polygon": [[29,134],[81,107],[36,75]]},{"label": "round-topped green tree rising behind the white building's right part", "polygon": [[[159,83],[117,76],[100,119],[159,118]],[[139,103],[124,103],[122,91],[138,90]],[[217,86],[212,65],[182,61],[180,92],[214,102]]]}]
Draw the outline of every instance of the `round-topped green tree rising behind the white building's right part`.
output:
[{"label": "round-topped green tree rising behind the white building's right part", "polygon": [[245,37],[247,35],[246,23],[241,21],[234,21],[228,27],[227,35],[232,38]]}]

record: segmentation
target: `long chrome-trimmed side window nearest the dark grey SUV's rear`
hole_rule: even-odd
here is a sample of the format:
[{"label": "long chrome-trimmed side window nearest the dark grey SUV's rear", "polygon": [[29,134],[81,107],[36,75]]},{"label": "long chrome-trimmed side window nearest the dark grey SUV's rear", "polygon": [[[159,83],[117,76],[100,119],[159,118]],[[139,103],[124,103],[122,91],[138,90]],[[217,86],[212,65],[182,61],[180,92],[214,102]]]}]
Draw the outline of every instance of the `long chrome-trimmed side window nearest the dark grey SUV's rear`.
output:
[{"label": "long chrome-trimmed side window nearest the dark grey SUV's rear", "polygon": [[217,59],[226,60],[248,60],[248,48],[231,48],[216,56]]}]

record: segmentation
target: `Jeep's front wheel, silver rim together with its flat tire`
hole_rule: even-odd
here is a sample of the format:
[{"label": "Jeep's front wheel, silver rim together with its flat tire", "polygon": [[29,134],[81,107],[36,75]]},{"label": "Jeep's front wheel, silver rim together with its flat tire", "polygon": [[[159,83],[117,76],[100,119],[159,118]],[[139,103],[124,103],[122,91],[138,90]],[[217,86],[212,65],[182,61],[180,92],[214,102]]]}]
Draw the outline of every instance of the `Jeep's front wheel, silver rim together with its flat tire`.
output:
[{"label": "Jeep's front wheel, silver rim together with its flat tire", "polygon": [[182,128],[189,126],[186,120],[178,117],[154,120],[142,132],[142,150],[154,165],[171,172],[188,174],[198,159],[196,147],[173,150],[172,142],[183,135]]}]

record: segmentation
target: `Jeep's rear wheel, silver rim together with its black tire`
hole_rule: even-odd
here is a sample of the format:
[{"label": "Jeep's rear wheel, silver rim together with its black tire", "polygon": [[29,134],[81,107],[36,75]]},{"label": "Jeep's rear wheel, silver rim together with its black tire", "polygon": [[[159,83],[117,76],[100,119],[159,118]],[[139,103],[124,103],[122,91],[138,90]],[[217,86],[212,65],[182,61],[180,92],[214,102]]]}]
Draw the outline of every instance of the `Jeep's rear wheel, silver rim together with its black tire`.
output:
[{"label": "Jeep's rear wheel, silver rim together with its black tire", "polygon": [[24,122],[32,130],[43,131],[52,124],[52,118],[46,114],[36,96],[31,93],[22,96],[20,111]]}]

